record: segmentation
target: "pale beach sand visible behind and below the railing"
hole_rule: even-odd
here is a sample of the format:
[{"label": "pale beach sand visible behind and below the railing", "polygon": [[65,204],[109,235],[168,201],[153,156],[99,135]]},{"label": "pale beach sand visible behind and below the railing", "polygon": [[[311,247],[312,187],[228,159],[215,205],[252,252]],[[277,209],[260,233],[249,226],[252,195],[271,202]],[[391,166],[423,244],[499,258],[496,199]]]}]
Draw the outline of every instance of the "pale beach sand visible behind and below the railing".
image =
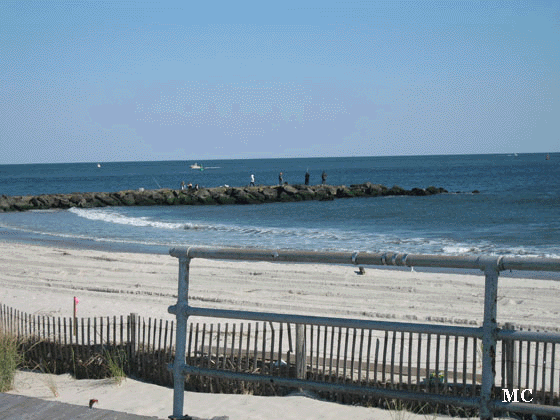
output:
[{"label": "pale beach sand visible behind and below the railing", "polygon": [[[223,309],[392,321],[481,325],[484,277],[355,266],[193,260],[191,304]],[[128,254],[0,242],[0,303],[35,315],[79,317],[137,313],[173,319],[178,261]],[[498,322],[557,328],[560,283],[500,278]],[[210,321],[192,318],[192,321]],[[216,320],[213,320],[216,322]],[[49,383],[56,383],[54,396]],[[169,388],[127,379],[75,380],[19,372],[15,394],[167,418]],[[257,397],[186,393],[185,411],[201,418],[391,419],[388,411],[344,406],[301,395]],[[424,419],[424,416],[406,418]]]}]

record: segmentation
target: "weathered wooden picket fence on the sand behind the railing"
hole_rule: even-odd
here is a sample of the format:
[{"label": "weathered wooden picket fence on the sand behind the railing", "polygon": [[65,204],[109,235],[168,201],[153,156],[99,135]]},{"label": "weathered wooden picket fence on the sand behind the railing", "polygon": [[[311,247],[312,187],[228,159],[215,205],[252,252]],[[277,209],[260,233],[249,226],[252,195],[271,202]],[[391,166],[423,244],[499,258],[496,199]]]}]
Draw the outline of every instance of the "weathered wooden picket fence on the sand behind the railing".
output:
[{"label": "weathered wooden picket fence on the sand behind the railing", "polygon": [[[417,332],[305,325],[305,375],[335,383],[478,396],[481,340]],[[515,328],[508,324],[504,328]],[[77,318],[30,315],[0,305],[0,330],[20,340],[29,368],[106,377],[118,358],[127,375],[172,386],[174,321],[137,314]],[[196,323],[187,334],[187,363],[205,368],[296,376],[295,325],[276,322]],[[543,404],[558,405],[560,354],[554,343],[498,343],[496,387],[534,389]],[[187,390],[282,394],[271,385],[191,376]],[[368,401],[371,404],[371,401]]]}]

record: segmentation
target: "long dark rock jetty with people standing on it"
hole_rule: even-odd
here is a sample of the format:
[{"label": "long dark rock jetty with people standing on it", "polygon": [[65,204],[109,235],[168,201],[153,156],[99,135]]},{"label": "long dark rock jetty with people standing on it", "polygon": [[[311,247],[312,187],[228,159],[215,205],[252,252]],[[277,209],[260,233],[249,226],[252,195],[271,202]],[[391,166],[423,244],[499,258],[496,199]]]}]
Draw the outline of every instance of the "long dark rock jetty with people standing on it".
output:
[{"label": "long dark rock jetty with people standing on it", "polygon": [[379,184],[350,185],[276,185],[255,187],[215,187],[199,190],[128,190],[113,193],[44,194],[0,197],[0,211],[67,209],[70,207],[260,204],[335,198],[380,197],[388,195],[426,196],[447,193],[443,188],[405,190]]}]

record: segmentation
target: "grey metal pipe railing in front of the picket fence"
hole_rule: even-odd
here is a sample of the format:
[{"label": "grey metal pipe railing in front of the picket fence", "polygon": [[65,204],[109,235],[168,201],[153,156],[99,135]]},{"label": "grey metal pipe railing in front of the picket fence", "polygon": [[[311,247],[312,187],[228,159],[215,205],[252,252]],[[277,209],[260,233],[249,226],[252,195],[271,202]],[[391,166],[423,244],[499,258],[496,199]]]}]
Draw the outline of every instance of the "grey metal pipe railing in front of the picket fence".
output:
[{"label": "grey metal pipe railing in front of the picket fence", "polygon": [[[316,391],[356,393],[360,395],[372,395],[376,398],[422,401],[434,404],[474,408],[479,409],[480,418],[483,420],[492,419],[494,412],[506,411],[550,416],[560,414],[560,407],[544,404],[528,404],[523,402],[504,402],[503,400],[494,399],[492,397],[492,392],[495,387],[498,340],[502,340],[502,342],[512,342],[513,340],[539,341],[554,343],[553,346],[560,343],[560,334],[558,333],[514,331],[498,328],[496,318],[499,273],[503,270],[560,271],[560,259],[513,258],[503,256],[439,256],[393,252],[351,253],[236,248],[216,249],[205,247],[172,248],[169,253],[171,256],[179,259],[177,304],[169,307],[169,312],[175,314],[177,317],[176,355],[174,363],[172,367],[170,367],[174,376],[173,415],[170,416],[171,419],[178,420],[189,418],[183,414],[185,376],[192,374],[248,382],[271,382],[280,386],[305,388]],[[194,307],[189,305],[189,269],[190,261],[193,258],[339,265],[352,264],[360,266],[394,265],[408,267],[480,269],[484,272],[485,276],[483,324],[482,327],[458,327]],[[296,326],[312,324],[331,327],[369,328],[384,331],[402,331],[409,333],[418,332],[474,337],[475,339],[482,340],[482,380],[480,394],[479,396],[476,396],[473,392],[471,396],[442,395],[438,393],[414,392],[407,389],[387,389],[348,383],[317,382],[302,379],[301,375],[298,375],[298,378],[271,377],[267,375],[189,366],[185,363],[187,320],[189,316],[286,322],[294,323]],[[300,333],[299,337],[298,334],[296,334],[296,348],[304,345],[302,340],[302,334]],[[296,357],[296,365],[298,365],[296,370],[302,369],[302,365],[303,369],[305,368],[305,358],[303,359],[304,360],[302,361],[300,357],[300,360],[298,361]],[[474,385],[476,385],[476,379],[473,379],[473,387]]]}]

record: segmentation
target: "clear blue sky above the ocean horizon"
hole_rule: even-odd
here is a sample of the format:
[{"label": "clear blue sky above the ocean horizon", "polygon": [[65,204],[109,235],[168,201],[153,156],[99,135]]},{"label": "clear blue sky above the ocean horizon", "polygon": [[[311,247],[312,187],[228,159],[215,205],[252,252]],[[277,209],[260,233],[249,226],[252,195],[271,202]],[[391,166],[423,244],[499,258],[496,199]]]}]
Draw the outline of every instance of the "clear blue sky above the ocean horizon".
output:
[{"label": "clear blue sky above the ocean horizon", "polygon": [[557,0],[4,0],[0,164],[559,152],[559,54]]}]

